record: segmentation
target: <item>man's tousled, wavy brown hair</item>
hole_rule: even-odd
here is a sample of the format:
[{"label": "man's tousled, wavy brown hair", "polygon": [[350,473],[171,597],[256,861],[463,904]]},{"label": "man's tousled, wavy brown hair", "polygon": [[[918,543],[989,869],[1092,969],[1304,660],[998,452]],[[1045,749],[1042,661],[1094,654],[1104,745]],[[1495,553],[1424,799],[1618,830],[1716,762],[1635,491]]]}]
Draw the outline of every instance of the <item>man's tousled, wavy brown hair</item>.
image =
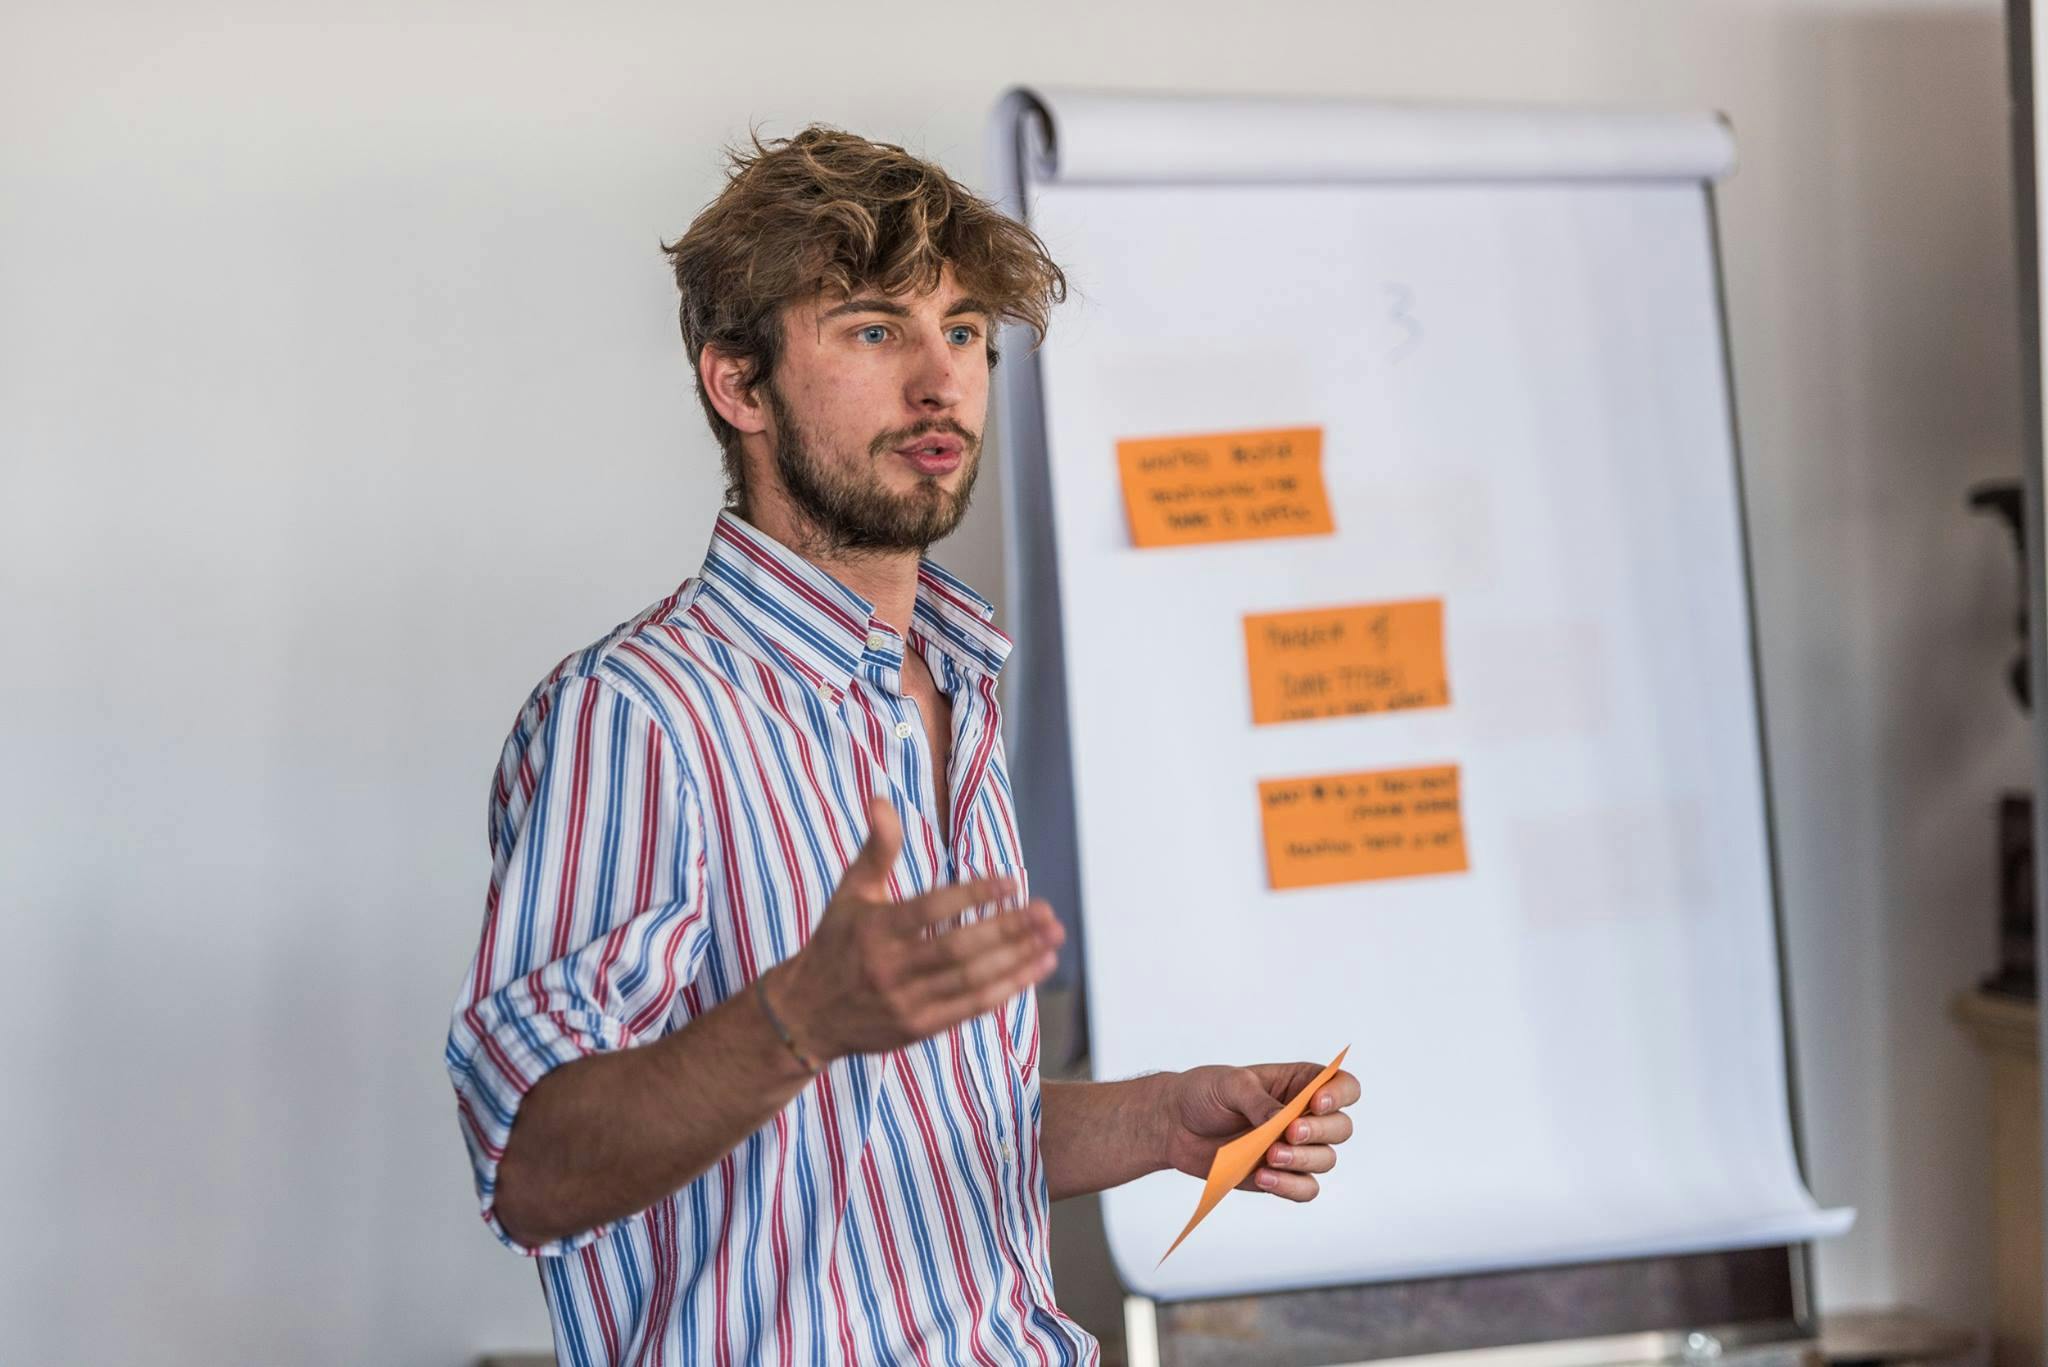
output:
[{"label": "man's tousled, wavy brown hair", "polygon": [[[692,367],[705,346],[741,361],[752,389],[774,377],[788,303],[860,291],[922,293],[940,271],[1001,322],[1044,340],[1067,277],[1038,236],[934,162],[821,123],[795,137],[727,150],[725,189],[676,242],[664,242],[682,293],[678,316]],[[997,361],[989,338],[989,367]],[[727,502],[743,506],[739,432],[696,400],[725,451]]]}]

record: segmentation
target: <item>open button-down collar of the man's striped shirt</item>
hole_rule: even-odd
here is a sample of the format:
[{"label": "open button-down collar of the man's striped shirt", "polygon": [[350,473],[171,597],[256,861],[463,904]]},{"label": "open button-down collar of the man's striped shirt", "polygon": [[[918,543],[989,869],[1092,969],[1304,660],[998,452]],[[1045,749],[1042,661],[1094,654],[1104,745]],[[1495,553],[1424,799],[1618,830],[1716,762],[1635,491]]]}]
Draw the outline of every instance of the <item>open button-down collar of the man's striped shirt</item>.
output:
[{"label": "open button-down collar of the man's striped shirt", "polygon": [[[895,633],[874,617],[872,603],[731,508],[711,531],[700,578],[811,682],[844,691],[866,656],[887,670],[901,668]],[[911,629],[946,660],[993,678],[1010,656],[1010,637],[993,619],[995,605],[936,562],[918,562]]]}]

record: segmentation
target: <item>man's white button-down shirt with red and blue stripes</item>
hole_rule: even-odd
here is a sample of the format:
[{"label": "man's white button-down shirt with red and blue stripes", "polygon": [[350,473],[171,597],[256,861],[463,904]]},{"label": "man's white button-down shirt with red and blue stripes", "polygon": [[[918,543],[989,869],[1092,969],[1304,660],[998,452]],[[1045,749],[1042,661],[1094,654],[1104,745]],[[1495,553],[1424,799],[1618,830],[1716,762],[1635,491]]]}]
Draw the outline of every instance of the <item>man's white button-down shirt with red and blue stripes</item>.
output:
[{"label": "man's white button-down shirt with red and blue stripes", "polygon": [[[494,1207],[526,1090],[684,1027],[801,949],[870,793],[903,822],[897,896],[1024,875],[995,705],[1010,639],[991,617],[924,562],[905,639],[725,512],[694,578],[563,660],[520,711],[446,1064],[483,1219],[537,1254],[559,1361],[1098,1361],[1053,1301],[1030,992],[834,1062],[637,1215],[528,1250]],[[948,822],[905,650],[952,705]]]}]

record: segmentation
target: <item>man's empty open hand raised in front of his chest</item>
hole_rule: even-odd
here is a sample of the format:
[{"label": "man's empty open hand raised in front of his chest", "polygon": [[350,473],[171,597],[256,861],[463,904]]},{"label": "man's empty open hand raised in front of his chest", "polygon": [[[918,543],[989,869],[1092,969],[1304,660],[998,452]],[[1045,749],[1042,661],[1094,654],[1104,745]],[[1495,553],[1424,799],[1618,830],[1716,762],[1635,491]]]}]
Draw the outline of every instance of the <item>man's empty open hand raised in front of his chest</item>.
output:
[{"label": "man's empty open hand raised in front of his chest", "polygon": [[868,799],[868,838],[840,877],[811,941],[776,974],[774,1008],[819,1064],[881,1053],[993,1010],[1044,980],[1065,933],[1047,902],[969,924],[961,912],[1016,896],[1014,877],[983,877],[895,902],[889,869],[903,828]]}]

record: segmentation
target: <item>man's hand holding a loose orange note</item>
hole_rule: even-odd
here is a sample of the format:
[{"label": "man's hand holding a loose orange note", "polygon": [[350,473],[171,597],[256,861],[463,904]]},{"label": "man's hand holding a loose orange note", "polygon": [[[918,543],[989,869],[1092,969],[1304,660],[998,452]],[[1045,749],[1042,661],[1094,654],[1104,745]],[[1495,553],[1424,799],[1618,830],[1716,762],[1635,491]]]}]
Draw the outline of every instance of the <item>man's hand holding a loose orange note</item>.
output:
[{"label": "man's hand holding a loose orange note", "polygon": [[[1270,1121],[1323,1072],[1321,1064],[1255,1064],[1251,1068],[1190,1068],[1174,1074],[1165,1092],[1165,1158],[1190,1176],[1208,1176],[1208,1164],[1229,1140]],[[1337,1072],[1317,1088],[1286,1133],[1266,1150],[1239,1187],[1270,1191],[1288,1201],[1313,1201],[1321,1191],[1311,1172],[1337,1166],[1333,1146],[1352,1137],[1343,1107],[1358,1101],[1358,1078]]]}]

